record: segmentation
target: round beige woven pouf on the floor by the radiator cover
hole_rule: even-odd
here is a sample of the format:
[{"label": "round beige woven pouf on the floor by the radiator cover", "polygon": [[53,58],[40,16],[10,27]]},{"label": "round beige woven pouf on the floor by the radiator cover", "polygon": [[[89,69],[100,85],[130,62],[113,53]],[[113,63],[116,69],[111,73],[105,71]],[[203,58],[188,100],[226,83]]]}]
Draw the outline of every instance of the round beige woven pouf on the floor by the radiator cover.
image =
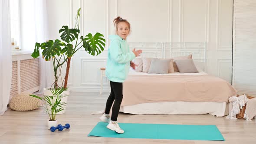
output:
[{"label": "round beige woven pouf on the floor by the radiator cover", "polygon": [[40,100],[29,96],[30,94],[21,93],[13,97],[10,101],[10,108],[14,111],[31,111],[41,105]]}]

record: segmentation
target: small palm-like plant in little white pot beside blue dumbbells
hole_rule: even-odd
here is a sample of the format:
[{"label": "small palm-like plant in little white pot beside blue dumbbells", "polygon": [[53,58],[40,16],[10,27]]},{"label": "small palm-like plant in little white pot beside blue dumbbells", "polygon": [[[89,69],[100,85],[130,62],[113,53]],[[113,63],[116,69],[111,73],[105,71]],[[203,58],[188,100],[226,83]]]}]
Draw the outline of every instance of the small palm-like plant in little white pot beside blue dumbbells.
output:
[{"label": "small palm-like plant in little white pot beside blue dumbbells", "polygon": [[43,95],[43,98],[37,95],[30,95],[43,101],[43,105],[39,107],[45,108],[46,114],[48,113],[49,115],[49,120],[47,121],[48,129],[57,126],[58,121],[56,119],[56,114],[60,111],[64,111],[66,103],[62,102],[61,99],[67,96],[62,95],[66,90],[67,88],[63,87],[59,90],[51,90],[50,92],[52,92],[52,95]]}]

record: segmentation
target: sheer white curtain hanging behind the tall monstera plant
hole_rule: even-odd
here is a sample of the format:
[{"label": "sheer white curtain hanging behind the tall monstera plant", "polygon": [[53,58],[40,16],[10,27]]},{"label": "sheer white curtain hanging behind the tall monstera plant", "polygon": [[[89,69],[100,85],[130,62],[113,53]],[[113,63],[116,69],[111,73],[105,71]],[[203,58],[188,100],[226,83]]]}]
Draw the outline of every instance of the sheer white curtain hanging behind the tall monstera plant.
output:
[{"label": "sheer white curtain hanging behind the tall monstera plant", "polygon": [[[49,39],[49,28],[48,28],[48,17],[47,17],[47,5],[46,0],[35,0],[35,41],[37,43],[44,43]],[[41,55],[42,50],[40,49],[39,57],[39,75],[40,75],[40,86],[39,92],[43,93],[43,88],[50,87],[53,83],[53,69],[52,61],[46,62]]]}]

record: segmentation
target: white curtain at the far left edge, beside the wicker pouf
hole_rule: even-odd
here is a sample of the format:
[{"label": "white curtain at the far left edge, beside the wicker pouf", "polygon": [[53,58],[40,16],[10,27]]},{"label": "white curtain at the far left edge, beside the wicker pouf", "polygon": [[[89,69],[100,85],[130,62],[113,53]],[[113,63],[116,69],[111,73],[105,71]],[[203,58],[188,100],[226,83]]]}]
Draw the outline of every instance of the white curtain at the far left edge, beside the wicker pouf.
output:
[{"label": "white curtain at the far left edge, beside the wicker pouf", "polygon": [[10,3],[0,0],[0,115],[7,110],[12,80]]}]

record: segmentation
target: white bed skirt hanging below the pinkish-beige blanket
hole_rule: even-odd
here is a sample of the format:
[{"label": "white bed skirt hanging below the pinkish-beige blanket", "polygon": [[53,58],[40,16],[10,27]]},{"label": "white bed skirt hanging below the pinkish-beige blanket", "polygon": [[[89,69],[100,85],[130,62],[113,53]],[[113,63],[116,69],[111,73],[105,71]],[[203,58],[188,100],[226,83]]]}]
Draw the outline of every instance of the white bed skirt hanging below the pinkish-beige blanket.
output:
[{"label": "white bed skirt hanging below the pinkish-beige blanket", "polygon": [[171,115],[204,115],[223,117],[229,114],[229,103],[226,102],[187,102],[169,101],[143,103],[121,106],[121,112],[136,115],[171,114]]}]

